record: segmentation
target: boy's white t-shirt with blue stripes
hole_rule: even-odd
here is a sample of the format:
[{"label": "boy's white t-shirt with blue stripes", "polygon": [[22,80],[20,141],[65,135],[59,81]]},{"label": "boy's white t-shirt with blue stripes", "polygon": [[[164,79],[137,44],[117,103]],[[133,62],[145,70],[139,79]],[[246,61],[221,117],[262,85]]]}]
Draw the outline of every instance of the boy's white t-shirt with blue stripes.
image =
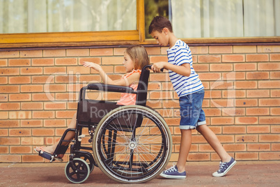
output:
[{"label": "boy's white t-shirt with blue stripes", "polygon": [[183,63],[189,63],[191,68],[189,77],[169,70],[170,80],[179,97],[204,89],[201,80],[199,80],[199,75],[196,74],[192,67],[192,52],[187,43],[182,40],[177,40],[176,44],[167,50],[167,57],[168,62],[173,65],[180,66]]}]

